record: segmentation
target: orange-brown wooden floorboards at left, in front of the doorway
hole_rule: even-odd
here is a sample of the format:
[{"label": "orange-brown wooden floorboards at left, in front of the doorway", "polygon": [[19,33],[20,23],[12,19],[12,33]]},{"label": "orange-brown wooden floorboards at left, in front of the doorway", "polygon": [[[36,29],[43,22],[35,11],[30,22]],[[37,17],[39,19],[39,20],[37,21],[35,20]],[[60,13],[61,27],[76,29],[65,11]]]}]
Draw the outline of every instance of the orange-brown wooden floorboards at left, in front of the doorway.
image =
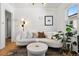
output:
[{"label": "orange-brown wooden floorboards at left, in front of the doorway", "polygon": [[7,41],[5,48],[0,49],[0,56],[7,56],[8,54],[10,54],[11,51],[15,50],[16,48],[17,46],[15,43]]}]

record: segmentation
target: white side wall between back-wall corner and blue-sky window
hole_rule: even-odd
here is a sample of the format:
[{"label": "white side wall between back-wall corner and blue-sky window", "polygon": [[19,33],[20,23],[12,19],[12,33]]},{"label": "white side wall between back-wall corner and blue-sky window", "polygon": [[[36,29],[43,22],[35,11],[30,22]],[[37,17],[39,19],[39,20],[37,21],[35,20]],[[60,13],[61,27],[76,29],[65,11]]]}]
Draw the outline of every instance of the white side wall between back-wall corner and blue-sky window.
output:
[{"label": "white side wall between back-wall corner and blue-sky window", "polygon": [[61,4],[58,8],[57,8],[57,31],[63,31],[65,32],[66,29],[66,20],[67,20],[67,8],[70,4]]}]

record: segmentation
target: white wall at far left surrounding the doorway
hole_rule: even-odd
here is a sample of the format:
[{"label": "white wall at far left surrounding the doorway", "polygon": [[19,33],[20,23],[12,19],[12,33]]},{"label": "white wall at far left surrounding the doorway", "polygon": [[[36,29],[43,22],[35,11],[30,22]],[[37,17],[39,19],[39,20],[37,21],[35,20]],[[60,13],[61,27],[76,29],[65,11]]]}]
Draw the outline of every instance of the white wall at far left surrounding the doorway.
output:
[{"label": "white wall at far left surrounding the doorway", "polygon": [[[13,29],[13,15],[14,15],[14,8],[12,8],[7,3],[1,3],[1,37],[0,37],[0,49],[5,47],[5,10],[12,13],[12,29]],[[12,30],[12,39],[13,39],[13,30]]]}]

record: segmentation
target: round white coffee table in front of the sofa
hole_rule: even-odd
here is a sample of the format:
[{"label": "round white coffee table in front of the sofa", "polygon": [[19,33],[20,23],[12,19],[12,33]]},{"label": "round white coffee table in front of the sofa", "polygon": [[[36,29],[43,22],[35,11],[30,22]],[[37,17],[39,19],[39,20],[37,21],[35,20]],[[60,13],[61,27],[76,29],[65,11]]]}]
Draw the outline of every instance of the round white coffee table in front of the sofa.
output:
[{"label": "round white coffee table in front of the sofa", "polygon": [[45,56],[48,45],[45,43],[35,42],[27,46],[28,56]]}]

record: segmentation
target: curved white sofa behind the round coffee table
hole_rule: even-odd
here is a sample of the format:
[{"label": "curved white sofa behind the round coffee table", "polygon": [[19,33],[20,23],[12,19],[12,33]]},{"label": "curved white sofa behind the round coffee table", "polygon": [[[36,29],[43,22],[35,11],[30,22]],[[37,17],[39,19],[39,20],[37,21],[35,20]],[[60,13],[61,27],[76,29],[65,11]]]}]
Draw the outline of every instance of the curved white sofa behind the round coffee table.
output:
[{"label": "curved white sofa behind the round coffee table", "polygon": [[16,38],[16,45],[24,46],[28,45],[31,42],[43,42],[46,43],[49,47],[53,48],[61,48],[63,46],[63,43],[61,40],[54,40],[54,39],[48,39],[48,38],[27,38],[27,39],[20,39],[20,36]]}]

